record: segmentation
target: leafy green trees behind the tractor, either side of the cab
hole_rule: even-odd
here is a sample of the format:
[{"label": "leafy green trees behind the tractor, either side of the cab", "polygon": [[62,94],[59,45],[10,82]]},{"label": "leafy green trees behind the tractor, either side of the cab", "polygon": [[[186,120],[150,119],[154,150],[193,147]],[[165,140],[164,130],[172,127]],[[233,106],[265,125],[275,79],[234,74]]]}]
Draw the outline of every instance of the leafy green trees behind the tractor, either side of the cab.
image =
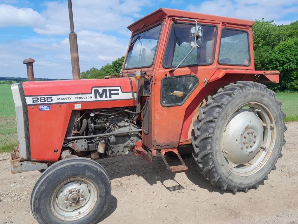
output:
[{"label": "leafy green trees behind the tractor, either side of the cab", "polygon": [[[273,20],[256,20],[253,27],[255,70],[279,70],[280,83],[268,84],[275,91],[298,91],[298,21],[276,25]],[[100,79],[119,74],[124,56],[97,69],[82,72],[82,79]]]}]

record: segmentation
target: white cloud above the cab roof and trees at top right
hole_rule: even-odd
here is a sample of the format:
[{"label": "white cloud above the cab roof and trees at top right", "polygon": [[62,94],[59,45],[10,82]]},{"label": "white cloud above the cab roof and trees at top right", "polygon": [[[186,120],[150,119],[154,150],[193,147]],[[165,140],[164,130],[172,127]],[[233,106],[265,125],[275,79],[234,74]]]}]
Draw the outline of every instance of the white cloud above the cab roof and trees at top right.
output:
[{"label": "white cloud above the cab roof and trees at top right", "polygon": [[298,7],[292,6],[297,0],[209,0],[201,4],[189,4],[188,10],[200,13],[235,17],[239,19],[278,20],[288,13],[297,13]]}]

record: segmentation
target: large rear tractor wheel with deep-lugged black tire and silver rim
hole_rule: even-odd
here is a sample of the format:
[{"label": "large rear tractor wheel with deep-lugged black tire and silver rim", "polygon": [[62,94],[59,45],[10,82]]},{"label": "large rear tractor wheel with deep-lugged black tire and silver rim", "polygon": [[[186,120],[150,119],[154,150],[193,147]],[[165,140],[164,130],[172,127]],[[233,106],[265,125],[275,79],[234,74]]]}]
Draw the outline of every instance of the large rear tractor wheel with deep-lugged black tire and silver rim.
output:
[{"label": "large rear tractor wheel with deep-lugged black tire and silver rim", "polygon": [[208,96],[194,122],[193,157],[222,190],[258,188],[275,170],[285,144],[285,113],[265,85],[240,81]]}]

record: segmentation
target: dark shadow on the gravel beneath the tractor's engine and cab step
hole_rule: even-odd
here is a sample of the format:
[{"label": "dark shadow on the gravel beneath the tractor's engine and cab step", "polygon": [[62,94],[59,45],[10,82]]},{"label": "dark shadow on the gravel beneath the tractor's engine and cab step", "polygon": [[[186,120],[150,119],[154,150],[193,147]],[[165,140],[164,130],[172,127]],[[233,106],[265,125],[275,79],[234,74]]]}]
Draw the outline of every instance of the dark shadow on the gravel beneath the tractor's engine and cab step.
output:
[{"label": "dark shadow on the gravel beneath the tractor's engine and cab step", "polygon": [[[166,159],[170,165],[177,165],[177,163],[179,163],[178,157],[167,157]],[[209,192],[232,194],[232,191],[222,191],[221,189],[216,188],[215,186],[210,184],[198,171],[197,165],[191,155],[182,156],[182,159],[188,166],[188,170],[182,172],[185,172],[187,178],[195,185],[198,185],[200,188],[207,189]],[[173,173],[167,170],[159,153],[156,157],[153,158],[151,164],[148,164],[141,157],[134,156],[132,153],[116,158],[100,159],[97,160],[97,162],[103,165],[103,167],[108,172],[110,179],[137,175],[145,179],[149,185],[154,185],[158,181],[160,181],[162,185],[169,191],[184,189],[183,184],[175,180],[177,172]],[[172,180],[176,182],[176,184],[173,186],[166,186],[164,182],[167,180]]]}]

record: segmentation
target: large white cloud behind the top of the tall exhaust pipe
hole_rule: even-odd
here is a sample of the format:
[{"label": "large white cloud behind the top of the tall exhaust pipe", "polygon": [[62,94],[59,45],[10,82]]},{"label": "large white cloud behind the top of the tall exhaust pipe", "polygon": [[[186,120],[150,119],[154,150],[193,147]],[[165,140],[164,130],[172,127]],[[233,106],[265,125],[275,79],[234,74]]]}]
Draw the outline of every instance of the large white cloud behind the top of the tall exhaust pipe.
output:
[{"label": "large white cloud behind the top of the tall exhaust pipe", "polygon": [[[150,4],[148,0],[95,0],[72,1],[75,31],[82,29],[112,31],[122,33],[134,22],[131,16],[141,17],[141,7]],[[46,2],[46,10],[41,15],[46,18],[42,26],[34,31],[42,35],[61,35],[69,33],[67,2]]]}]

